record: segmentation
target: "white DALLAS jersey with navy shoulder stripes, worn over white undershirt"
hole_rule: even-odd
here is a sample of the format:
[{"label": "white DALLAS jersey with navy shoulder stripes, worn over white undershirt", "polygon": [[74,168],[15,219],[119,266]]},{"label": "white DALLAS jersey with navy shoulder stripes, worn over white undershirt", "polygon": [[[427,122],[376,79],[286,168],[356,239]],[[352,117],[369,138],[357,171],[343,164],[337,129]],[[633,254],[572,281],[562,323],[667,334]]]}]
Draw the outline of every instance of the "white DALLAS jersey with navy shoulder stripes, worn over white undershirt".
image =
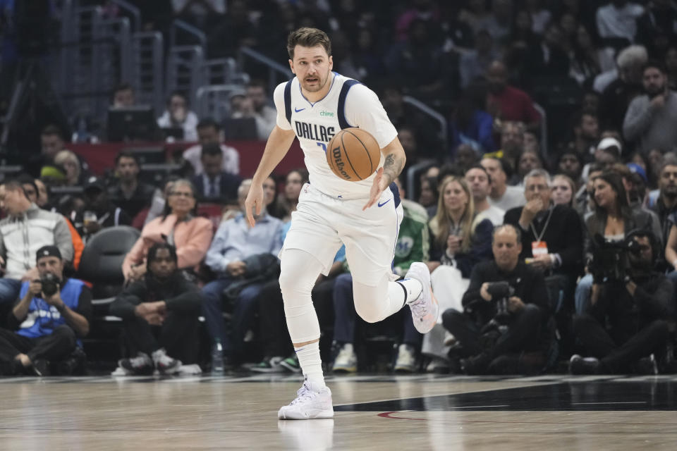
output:
[{"label": "white DALLAS jersey with navy shoulder stripes, worn over white undershirt", "polygon": [[[313,187],[331,197],[368,198],[374,175],[358,182],[339,178],[331,172],[327,163],[327,144],[342,128],[359,127],[370,132],[383,149],[395,139],[397,130],[371,89],[334,72],[329,74],[329,78],[329,92],[316,102],[305,98],[298,78],[278,85],[273,96],[277,125],[283,130],[294,130],[303,149]],[[383,162],[381,155],[379,168]]]}]

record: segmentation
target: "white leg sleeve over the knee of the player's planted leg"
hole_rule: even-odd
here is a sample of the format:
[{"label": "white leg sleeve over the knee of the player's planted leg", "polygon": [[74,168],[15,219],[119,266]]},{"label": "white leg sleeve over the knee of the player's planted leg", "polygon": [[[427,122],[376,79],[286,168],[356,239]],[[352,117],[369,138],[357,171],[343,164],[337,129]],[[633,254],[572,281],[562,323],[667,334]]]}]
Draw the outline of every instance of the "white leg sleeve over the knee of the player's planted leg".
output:
[{"label": "white leg sleeve over the knee of the player's planted leg", "polygon": [[319,322],[310,292],[322,265],[308,252],[284,249],[280,266],[280,290],[291,341],[300,343],[317,340]]}]

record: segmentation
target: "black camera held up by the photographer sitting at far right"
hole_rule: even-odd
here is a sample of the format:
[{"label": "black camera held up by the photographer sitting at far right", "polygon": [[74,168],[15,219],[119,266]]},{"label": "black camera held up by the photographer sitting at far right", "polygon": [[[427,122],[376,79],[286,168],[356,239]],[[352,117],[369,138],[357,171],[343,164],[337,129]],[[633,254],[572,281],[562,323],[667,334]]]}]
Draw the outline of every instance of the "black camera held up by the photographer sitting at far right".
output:
[{"label": "black camera held up by the photographer sitting at far right", "polygon": [[630,269],[630,253],[640,252],[640,244],[633,236],[622,241],[609,242],[602,235],[594,236],[592,260],[588,264],[594,283],[622,282]]}]

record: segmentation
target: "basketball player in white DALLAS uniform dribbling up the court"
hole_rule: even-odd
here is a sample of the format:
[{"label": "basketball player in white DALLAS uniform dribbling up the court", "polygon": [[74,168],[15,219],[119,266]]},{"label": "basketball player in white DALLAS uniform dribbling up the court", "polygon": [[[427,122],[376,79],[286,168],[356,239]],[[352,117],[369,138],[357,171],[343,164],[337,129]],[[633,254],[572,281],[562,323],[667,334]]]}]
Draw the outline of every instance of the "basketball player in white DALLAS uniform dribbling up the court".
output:
[{"label": "basketball player in white DALLAS uniform dribbling up the court", "polygon": [[[310,183],[303,186],[280,252],[280,288],[289,335],[305,382],[279,419],[331,418],[331,391],[324,384],[319,357],[319,323],[310,299],[319,273],[327,274],[334,255],[346,245],[353,274],[355,310],[367,322],[381,321],[408,304],[417,330],[428,332],[437,321],[437,301],[430,273],[414,263],[406,278],[391,271],[402,206],[393,183],[405,163],[397,131],[378,97],[365,85],[332,72],[331,42],[315,28],[289,34],[289,66],[296,75],[274,92],[277,125],[271,132],[253,177],[245,209],[264,206],[263,182],[297,137]],[[329,168],[327,143],[339,130],[360,127],[381,148],[379,169],[358,182],[342,180]],[[392,184],[392,185],[391,185]]]}]

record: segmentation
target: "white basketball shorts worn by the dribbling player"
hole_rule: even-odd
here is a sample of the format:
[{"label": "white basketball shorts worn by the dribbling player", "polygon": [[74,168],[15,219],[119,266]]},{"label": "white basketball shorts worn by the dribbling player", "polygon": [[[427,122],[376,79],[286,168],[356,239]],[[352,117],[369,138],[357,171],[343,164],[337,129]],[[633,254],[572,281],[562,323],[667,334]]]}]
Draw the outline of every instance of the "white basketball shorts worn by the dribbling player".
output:
[{"label": "white basketball shorts worn by the dribbling player", "polygon": [[[368,199],[336,199],[306,183],[301,188],[284,249],[301,249],[322,264],[327,275],[341,243],[353,279],[376,286],[384,274],[392,274],[397,234],[403,218],[386,188],[379,201],[362,211]],[[280,253],[282,254],[282,252]]]}]

